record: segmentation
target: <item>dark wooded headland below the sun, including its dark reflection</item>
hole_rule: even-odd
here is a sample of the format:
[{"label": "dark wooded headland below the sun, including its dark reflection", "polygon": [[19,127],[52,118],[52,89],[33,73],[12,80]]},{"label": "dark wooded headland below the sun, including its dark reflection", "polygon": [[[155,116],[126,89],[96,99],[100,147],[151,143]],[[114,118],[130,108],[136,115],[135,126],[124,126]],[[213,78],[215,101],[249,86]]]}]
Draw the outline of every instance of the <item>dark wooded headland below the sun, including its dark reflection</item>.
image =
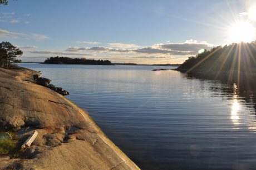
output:
[{"label": "dark wooded headland below the sun, including its dark reflection", "polygon": [[218,46],[189,57],[176,71],[231,83],[250,83],[256,78],[256,42]]}]

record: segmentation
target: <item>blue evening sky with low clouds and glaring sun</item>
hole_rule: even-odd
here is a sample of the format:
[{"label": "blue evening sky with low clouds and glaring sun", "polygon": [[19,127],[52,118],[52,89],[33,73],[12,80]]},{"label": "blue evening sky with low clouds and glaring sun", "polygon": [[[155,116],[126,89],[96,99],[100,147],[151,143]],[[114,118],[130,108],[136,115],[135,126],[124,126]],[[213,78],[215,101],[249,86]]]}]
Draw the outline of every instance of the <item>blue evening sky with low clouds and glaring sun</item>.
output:
[{"label": "blue evening sky with low clouds and glaring sun", "polygon": [[0,6],[0,41],[22,49],[24,62],[58,55],[183,63],[200,49],[255,41],[254,6],[253,0],[9,0]]}]

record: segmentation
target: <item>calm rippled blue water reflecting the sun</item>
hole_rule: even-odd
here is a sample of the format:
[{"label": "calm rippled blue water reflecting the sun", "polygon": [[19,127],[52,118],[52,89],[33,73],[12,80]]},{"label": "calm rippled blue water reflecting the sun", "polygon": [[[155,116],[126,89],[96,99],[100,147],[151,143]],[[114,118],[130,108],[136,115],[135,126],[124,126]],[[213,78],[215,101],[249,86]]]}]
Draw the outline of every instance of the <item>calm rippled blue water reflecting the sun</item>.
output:
[{"label": "calm rippled blue water reflecting the sun", "polygon": [[71,94],[141,169],[255,169],[255,93],[159,66],[19,64]]}]

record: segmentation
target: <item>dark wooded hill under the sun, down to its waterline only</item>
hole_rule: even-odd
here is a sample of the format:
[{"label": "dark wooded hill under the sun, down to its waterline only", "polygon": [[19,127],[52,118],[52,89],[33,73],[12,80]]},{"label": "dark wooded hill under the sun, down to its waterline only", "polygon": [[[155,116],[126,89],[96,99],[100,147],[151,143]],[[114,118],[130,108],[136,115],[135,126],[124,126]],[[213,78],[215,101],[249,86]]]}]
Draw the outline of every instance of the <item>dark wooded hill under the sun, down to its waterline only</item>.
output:
[{"label": "dark wooded hill under the sun, down to its waterline only", "polygon": [[210,51],[189,57],[178,70],[255,72],[256,41],[214,47]]}]

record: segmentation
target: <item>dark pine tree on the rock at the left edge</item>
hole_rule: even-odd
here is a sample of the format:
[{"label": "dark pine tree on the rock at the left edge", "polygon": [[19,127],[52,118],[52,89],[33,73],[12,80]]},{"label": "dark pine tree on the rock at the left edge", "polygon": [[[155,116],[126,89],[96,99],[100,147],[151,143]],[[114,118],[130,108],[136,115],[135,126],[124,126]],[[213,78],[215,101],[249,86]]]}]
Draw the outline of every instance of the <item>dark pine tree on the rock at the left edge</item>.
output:
[{"label": "dark pine tree on the rock at the left edge", "polygon": [[9,68],[12,63],[21,62],[16,57],[21,56],[23,52],[9,42],[0,43],[0,67]]}]

